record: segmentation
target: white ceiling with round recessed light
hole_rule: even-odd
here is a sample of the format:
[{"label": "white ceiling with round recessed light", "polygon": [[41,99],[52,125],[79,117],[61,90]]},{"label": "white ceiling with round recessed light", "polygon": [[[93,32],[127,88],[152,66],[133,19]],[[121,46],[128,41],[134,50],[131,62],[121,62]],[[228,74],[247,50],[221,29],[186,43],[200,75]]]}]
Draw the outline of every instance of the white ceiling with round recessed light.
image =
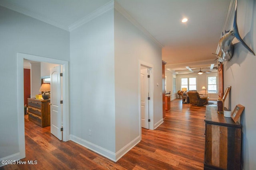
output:
[{"label": "white ceiling with round recessed light", "polygon": [[[208,70],[230,0],[116,0],[162,46],[168,70]],[[108,9],[112,0],[0,0],[0,5],[68,31]],[[183,17],[188,18],[182,23]],[[89,19],[88,19],[89,18]]]}]

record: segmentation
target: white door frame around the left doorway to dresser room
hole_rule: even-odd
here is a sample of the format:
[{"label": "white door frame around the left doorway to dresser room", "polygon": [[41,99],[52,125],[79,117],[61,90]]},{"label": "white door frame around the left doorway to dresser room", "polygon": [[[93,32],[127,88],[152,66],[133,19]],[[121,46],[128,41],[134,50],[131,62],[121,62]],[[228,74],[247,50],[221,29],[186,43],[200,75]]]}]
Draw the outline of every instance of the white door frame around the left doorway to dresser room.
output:
[{"label": "white door frame around the left doorway to dresser room", "polygon": [[62,111],[62,124],[64,127],[63,141],[69,141],[69,86],[68,86],[68,61],[62,61],[58,59],[51,59],[46,57],[40,57],[36,55],[28,55],[23,53],[17,53],[17,90],[18,90],[18,140],[20,159],[25,158],[25,123],[24,123],[24,71],[23,63],[24,59],[30,61],[38,61],[52,64],[62,65],[62,99],[63,99],[63,111]]}]

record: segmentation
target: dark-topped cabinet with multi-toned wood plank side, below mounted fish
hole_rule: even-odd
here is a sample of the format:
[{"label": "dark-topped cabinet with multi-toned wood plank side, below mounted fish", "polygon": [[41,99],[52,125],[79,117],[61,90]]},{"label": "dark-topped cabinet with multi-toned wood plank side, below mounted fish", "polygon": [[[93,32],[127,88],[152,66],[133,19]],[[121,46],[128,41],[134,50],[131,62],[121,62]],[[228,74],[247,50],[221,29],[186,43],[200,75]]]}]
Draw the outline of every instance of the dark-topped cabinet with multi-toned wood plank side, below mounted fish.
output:
[{"label": "dark-topped cabinet with multi-toned wood plank side, below mounted fish", "polygon": [[242,126],[217,113],[217,106],[206,106],[205,170],[240,170]]}]

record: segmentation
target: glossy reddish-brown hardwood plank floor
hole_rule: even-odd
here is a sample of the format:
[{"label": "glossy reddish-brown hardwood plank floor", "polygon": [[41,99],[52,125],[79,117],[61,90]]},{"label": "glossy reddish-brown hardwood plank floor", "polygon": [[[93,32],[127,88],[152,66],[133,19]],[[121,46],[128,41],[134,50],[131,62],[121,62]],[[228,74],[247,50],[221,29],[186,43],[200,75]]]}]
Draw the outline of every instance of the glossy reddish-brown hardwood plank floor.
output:
[{"label": "glossy reddish-brown hardwood plank floor", "polygon": [[[198,170],[204,168],[205,106],[171,101],[171,111],[157,129],[142,128],[142,141],[118,162],[72,141],[62,142],[25,116],[27,164],[6,165],[0,170],[90,169],[90,170]],[[36,160],[37,164],[28,164]],[[35,163],[35,162],[34,162]]]}]

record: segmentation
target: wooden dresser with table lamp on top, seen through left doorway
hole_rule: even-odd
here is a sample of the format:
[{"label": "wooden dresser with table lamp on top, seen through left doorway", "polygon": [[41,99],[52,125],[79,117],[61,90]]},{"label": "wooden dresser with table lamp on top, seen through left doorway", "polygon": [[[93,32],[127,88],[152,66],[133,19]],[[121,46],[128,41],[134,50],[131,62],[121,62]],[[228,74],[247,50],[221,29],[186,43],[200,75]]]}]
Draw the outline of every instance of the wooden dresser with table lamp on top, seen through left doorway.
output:
[{"label": "wooden dresser with table lamp on top, seen through left doorway", "polygon": [[28,119],[40,127],[50,126],[50,99],[28,98]]}]

